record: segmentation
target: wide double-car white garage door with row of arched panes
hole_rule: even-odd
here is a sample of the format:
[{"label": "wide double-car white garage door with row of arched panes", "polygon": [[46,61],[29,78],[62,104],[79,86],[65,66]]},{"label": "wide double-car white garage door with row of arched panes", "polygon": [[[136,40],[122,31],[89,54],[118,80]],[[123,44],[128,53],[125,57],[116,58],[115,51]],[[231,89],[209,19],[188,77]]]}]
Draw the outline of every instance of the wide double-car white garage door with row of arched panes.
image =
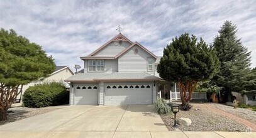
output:
[{"label": "wide double-car white garage door with row of arched panes", "polygon": [[152,104],[152,83],[108,83],[105,105]]}]

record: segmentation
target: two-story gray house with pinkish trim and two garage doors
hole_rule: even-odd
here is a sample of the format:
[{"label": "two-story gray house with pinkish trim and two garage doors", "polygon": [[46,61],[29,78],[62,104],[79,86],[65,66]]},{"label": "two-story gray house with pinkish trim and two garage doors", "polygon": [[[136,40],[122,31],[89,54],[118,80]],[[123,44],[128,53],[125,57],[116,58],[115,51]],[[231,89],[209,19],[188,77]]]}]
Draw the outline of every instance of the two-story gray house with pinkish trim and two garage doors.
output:
[{"label": "two-story gray house with pinkish trim and two garage doors", "polygon": [[157,56],[118,34],[88,56],[84,73],[67,78],[70,105],[153,104],[161,78]]}]

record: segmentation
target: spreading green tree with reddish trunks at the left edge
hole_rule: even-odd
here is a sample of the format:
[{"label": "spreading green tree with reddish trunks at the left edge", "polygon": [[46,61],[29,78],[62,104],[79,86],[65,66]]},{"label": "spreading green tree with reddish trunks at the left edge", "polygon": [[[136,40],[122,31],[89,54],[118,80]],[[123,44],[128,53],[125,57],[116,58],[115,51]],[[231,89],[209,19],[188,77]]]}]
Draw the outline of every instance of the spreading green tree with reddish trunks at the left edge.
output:
[{"label": "spreading green tree with reddish trunks at the left edge", "polygon": [[55,69],[52,56],[42,47],[18,36],[11,29],[0,30],[0,121],[13,104],[22,86],[40,77],[47,77]]}]

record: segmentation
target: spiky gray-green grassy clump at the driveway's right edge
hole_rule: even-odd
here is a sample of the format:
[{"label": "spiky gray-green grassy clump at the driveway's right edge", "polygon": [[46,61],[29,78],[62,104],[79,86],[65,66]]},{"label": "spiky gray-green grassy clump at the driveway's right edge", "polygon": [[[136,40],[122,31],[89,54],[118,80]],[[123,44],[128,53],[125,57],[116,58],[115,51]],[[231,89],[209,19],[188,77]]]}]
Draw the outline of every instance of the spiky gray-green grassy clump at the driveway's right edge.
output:
[{"label": "spiky gray-green grassy clump at the driveway's right edge", "polygon": [[157,100],[154,103],[155,110],[159,114],[170,114],[172,113],[170,106],[167,105],[167,102],[162,98],[157,98]]}]

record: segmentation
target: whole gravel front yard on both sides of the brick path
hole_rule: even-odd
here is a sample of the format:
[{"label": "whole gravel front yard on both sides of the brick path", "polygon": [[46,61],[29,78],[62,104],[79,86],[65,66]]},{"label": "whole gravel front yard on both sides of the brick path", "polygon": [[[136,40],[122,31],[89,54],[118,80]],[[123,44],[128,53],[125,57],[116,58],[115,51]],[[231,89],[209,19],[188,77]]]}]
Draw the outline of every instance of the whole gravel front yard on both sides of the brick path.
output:
[{"label": "whole gravel front yard on both sides of the brick path", "polygon": [[[205,103],[192,104],[192,109],[189,111],[180,110],[177,113],[177,119],[184,117],[192,120],[189,126],[180,125],[179,130],[182,131],[228,131],[228,132],[251,132],[252,129],[238,123],[234,119],[230,119],[225,115],[213,112],[211,107],[233,114],[242,119],[247,119],[253,124],[256,124],[256,112],[247,109],[233,109],[233,107],[221,104]],[[161,115],[162,120],[169,130],[174,130],[174,115]]]}]

